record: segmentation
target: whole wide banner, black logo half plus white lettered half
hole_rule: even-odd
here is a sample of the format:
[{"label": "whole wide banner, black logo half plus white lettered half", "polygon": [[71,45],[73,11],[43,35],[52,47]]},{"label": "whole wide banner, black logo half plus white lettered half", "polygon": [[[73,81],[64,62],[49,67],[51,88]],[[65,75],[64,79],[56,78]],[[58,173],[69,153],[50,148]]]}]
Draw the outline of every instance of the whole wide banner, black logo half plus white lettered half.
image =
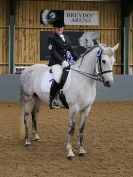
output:
[{"label": "whole wide banner, black logo half plus white lettered half", "polygon": [[98,11],[42,10],[40,22],[53,24],[55,20],[64,20],[65,25],[99,25]]}]

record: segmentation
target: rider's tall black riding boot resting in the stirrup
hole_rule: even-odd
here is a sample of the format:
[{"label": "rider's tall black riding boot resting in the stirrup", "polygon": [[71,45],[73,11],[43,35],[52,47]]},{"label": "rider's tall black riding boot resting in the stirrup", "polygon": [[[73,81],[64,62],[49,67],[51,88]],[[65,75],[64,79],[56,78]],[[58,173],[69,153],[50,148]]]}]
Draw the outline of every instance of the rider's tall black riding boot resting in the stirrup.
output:
[{"label": "rider's tall black riding boot resting in the stirrup", "polygon": [[57,102],[55,101],[55,96],[59,90],[59,85],[60,84],[53,80],[49,95],[49,109],[59,108],[59,104],[57,104]]}]

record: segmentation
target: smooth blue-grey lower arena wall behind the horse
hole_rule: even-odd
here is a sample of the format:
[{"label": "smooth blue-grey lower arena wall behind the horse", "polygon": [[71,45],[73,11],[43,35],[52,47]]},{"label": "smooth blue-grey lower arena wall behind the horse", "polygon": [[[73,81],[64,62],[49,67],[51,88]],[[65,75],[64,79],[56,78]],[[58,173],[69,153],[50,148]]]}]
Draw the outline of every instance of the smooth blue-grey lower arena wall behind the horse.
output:
[{"label": "smooth blue-grey lower arena wall behind the horse", "polygon": [[[19,102],[21,100],[20,75],[0,76],[0,102]],[[104,87],[97,82],[96,101],[127,101],[133,100],[133,77],[117,75],[112,87]]]}]

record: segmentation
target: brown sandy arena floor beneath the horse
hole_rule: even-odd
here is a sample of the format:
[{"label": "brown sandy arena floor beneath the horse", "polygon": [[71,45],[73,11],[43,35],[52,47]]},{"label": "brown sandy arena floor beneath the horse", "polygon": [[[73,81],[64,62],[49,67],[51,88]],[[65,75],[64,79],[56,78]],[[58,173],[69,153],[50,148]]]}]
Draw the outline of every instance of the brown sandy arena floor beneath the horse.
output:
[{"label": "brown sandy arena floor beneath the horse", "polygon": [[[79,118],[79,116],[78,116]],[[42,105],[42,142],[24,147],[21,103],[0,104],[0,177],[133,177],[133,102],[95,102],[84,131],[85,157],[79,157],[79,119],[73,137],[75,160],[67,160],[68,110]]]}]

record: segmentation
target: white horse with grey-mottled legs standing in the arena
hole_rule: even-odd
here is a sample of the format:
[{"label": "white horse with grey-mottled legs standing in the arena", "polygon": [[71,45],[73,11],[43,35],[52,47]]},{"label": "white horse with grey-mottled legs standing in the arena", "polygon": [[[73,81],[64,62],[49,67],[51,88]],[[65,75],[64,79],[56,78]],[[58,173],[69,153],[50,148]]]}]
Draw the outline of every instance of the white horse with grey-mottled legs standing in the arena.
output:
[{"label": "white horse with grey-mottled legs standing in the arena", "polygon": [[[79,128],[79,154],[85,155],[83,147],[83,130],[85,120],[91,109],[91,105],[96,97],[96,80],[103,82],[104,86],[111,87],[113,83],[113,64],[114,51],[118,48],[104,47],[98,44],[90,51],[82,55],[70,69],[62,92],[65,95],[69,107],[69,127],[67,141],[67,158],[72,160],[74,153],[72,150],[72,136],[74,134],[76,115],[80,111]],[[40,109],[41,101],[48,103],[51,73],[49,66],[45,64],[35,64],[26,68],[21,74],[21,86],[24,97],[24,125],[25,125],[25,146],[31,146],[28,134],[28,119],[30,114],[30,105],[34,96],[34,107],[32,110],[32,130],[35,140],[40,141],[37,134],[37,114]],[[44,79],[43,79],[44,78]],[[42,81],[43,80],[43,81]],[[42,82],[45,83],[42,90]],[[63,106],[61,104],[61,106]]]}]

